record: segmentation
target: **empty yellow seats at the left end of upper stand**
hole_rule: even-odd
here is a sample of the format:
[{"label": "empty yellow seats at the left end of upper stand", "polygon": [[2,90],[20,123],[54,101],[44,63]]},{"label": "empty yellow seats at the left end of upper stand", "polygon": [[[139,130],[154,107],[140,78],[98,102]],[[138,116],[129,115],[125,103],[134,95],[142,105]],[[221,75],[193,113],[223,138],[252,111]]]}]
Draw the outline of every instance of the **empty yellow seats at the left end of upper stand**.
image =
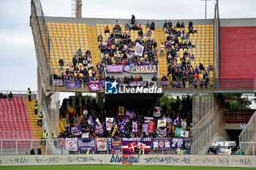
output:
[{"label": "empty yellow seats at the left end of upper stand", "polygon": [[64,66],[72,63],[72,57],[81,48],[83,53],[89,49],[88,35],[85,23],[47,23],[53,49],[50,58],[54,72],[59,73],[59,59],[64,60]]}]

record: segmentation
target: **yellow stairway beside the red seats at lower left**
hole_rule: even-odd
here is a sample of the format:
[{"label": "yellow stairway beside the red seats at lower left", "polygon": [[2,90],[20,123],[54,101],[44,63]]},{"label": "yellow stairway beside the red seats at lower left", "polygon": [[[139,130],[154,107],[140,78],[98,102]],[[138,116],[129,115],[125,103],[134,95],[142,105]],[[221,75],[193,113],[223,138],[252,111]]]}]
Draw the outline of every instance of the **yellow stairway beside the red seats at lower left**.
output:
[{"label": "yellow stairway beside the red seats at lower left", "polygon": [[[34,139],[41,139],[42,127],[39,127],[39,125],[37,125],[38,115],[34,114],[34,104],[36,103],[36,101],[37,101],[36,99],[31,99],[31,101],[29,101],[29,99],[25,99],[26,109],[28,110],[28,113],[29,113],[29,120],[30,120],[31,128],[34,134]],[[42,154],[45,154],[45,146],[42,144],[39,144],[39,146],[42,148]]]}]

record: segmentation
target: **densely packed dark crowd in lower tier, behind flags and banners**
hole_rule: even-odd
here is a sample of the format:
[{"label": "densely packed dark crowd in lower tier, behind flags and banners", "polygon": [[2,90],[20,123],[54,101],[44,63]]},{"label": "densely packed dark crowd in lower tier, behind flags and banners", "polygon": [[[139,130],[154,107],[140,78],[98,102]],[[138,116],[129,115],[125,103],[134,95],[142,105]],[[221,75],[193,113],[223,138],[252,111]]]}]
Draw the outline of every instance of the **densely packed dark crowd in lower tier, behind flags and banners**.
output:
[{"label": "densely packed dark crowd in lower tier, behind flags and banners", "polygon": [[[72,135],[71,127],[81,125],[83,133],[89,133],[90,137],[130,138],[143,136],[157,138],[159,137],[157,134],[157,120],[165,118],[168,118],[170,120],[169,123],[172,125],[176,124],[179,120],[185,120],[187,122],[187,126],[184,130],[189,131],[192,127],[192,99],[190,96],[173,99],[170,106],[164,104],[161,109],[160,117],[154,117],[154,107],[152,106],[127,106],[125,109],[126,111],[133,112],[134,116],[129,119],[124,134],[121,134],[120,131],[116,131],[116,134],[112,136],[115,123],[122,119],[122,117],[118,117],[118,106],[106,106],[101,109],[94,98],[92,100],[89,98],[86,100],[86,98],[79,98],[78,96],[76,96],[75,99],[72,99],[72,97],[64,98],[60,108],[60,118],[62,118],[65,124],[65,130],[61,132],[59,137],[75,137]],[[89,124],[89,117],[91,117],[94,122],[97,122],[97,118],[99,119],[99,122],[103,125],[102,134],[95,134],[96,123],[91,126]],[[113,117],[113,126],[110,131],[107,131],[106,129],[106,117]],[[143,117],[154,117],[154,122],[156,122],[154,126],[154,133],[148,135],[143,133],[141,130]],[[133,120],[138,120],[138,133],[135,134],[132,133]],[[181,125],[177,123],[176,127],[180,128]],[[173,135],[174,131],[173,134],[166,137],[172,137]],[[189,133],[189,136],[191,135],[192,134]]]}]

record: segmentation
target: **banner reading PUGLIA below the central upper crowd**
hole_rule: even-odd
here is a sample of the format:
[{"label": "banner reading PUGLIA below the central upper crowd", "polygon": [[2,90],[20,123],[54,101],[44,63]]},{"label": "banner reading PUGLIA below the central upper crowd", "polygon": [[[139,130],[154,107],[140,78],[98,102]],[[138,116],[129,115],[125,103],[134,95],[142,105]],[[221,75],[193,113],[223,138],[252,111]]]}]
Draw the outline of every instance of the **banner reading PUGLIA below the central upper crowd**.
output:
[{"label": "banner reading PUGLIA below the central upper crowd", "polygon": [[129,73],[157,73],[157,65],[124,66],[124,72]]}]

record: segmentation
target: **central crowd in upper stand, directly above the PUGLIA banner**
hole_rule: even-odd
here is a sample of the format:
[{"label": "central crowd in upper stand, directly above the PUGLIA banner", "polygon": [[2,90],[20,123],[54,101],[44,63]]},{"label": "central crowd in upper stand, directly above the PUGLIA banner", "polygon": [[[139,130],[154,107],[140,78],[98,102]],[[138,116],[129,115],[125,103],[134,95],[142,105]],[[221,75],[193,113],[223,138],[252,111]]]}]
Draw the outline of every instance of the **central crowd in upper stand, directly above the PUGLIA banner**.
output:
[{"label": "central crowd in upper stand, directly above the PUGLIA banner", "polygon": [[[134,15],[132,18],[135,18]],[[143,32],[141,24],[135,23],[135,19],[131,23],[124,26],[125,30],[121,29],[120,23],[116,20],[113,31],[106,26],[105,34],[109,35],[107,40],[103,42],[102,34],[99,34],[99,51],[102,57],[102,63],[116,65],[156,65],[157,60],[157,42],[151,38],[154,30],[154,22],[146,23],[146,33]],[[138,38],[132,40],[130,31],[138,31]],[[142,56],[135,55],[135,45],[139,43],[144,47]]]}]

